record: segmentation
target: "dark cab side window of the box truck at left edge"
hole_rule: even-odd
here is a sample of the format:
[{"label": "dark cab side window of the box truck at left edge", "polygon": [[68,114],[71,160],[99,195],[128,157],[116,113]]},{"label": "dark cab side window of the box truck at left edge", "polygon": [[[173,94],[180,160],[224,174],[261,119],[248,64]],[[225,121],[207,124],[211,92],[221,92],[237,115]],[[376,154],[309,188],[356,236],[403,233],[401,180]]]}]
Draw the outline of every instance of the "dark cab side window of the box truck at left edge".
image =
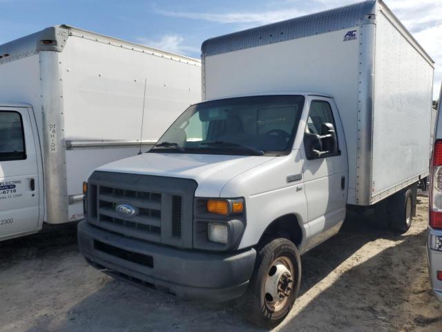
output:
[{"label": "dark cab side window of the box truck at left edge", "polygon": [[26,159],[21,115],[13,111],[0,111],[0,161],[21,159]]}]

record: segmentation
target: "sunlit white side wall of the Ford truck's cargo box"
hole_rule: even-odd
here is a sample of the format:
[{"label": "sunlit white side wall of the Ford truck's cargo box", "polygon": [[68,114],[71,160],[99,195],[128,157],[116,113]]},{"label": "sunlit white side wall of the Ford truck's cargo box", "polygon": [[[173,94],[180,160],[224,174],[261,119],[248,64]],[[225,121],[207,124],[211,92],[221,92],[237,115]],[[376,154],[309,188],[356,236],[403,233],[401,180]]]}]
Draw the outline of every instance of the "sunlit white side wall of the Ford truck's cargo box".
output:
[{"label": "sunlit white side wall of the Ford truck's cargo box", "polygon": [[370,203],[428,174],[433,81],[431,64],[383,10],[374,64]]}]

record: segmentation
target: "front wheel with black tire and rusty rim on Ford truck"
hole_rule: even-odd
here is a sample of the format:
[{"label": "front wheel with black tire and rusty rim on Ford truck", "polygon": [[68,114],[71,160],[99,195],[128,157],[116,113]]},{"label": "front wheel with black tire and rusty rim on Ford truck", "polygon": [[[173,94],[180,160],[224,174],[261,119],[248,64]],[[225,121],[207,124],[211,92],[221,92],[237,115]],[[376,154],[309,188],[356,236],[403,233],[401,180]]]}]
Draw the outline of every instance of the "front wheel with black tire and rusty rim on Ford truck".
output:
[{"label": "front wheel with black tire and rusty rim on Ford truck", "polygon": [[289,313],[298,295],[301,264],[288,239],[274,239],[259,250],[249,288],[239,309],[253,324],[271,328]]}]

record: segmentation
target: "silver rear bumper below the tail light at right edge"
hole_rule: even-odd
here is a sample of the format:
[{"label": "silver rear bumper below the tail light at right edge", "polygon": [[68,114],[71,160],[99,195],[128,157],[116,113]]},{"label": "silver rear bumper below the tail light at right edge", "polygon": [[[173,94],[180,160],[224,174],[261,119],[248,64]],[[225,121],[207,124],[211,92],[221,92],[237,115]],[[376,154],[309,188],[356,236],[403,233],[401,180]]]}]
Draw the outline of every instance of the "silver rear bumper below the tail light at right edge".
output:
[{"label": "silver rear bumper below the tail light at right edge", "polygon": [[439,302],[442,302],[442,281],[437,279],[437,271],[442,271],[442,251],[432,249],[432,241],[434,237],[442,237],[440,230],[433,230],[428,228],[427,232],[427,259],[428,271],[430,273],[430,280],[434,297]]}]

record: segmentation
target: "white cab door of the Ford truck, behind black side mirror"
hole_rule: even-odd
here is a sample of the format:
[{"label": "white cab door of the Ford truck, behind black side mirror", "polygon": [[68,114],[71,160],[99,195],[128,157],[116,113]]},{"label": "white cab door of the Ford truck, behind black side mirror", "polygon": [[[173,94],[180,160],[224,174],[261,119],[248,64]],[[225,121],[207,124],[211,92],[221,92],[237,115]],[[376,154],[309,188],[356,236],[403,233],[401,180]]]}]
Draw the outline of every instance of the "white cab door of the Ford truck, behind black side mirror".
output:
[{"label": "white cab door of the Ford truck, behind black side mirror", "polygon": [[305,140],[302,143],[301,153],[305,160],[302,175],[311,239],[307,246],[311,247],[336,234],[345,219],[348,163],[343,127],[333,100],[312,96],[308,101],[310,106],[304,135],[323,135],[322,124],[328,122],[333,124],[338,140],[336,153],[310,159],[306,155]]}]

